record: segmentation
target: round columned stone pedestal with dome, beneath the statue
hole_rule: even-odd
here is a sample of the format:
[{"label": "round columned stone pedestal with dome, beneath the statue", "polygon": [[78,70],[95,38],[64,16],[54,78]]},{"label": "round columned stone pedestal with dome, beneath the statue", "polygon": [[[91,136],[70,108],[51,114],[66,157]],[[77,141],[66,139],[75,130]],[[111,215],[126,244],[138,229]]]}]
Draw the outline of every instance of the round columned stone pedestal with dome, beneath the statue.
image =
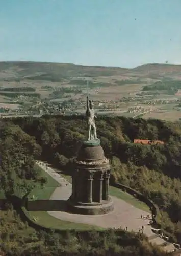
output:
[{"label": "round columned stone pedestal with dome, beneath the statue", "polygon": [[84,141],[75,160],[69,210],[87,215],[112,211],[114,207],[108,195],[109,177],[110,164],[100,140]]}]

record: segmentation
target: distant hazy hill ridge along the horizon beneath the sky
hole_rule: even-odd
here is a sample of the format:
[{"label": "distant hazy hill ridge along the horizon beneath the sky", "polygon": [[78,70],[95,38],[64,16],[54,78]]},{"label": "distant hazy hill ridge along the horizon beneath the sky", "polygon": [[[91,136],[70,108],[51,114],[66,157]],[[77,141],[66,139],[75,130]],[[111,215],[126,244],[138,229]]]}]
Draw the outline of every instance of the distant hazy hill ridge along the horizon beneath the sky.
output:
[{"label": "distant hazy hill ridge along the horizon beneath the sky", "polygon": [[27,78],[60,81],[71,77],[131,76],[149,78],[150,75],[181,75],[181,65],[148,63],[133,69],[121,67],[84,66],[72,63],[51,63],[33,61],[0,62],[0,79]]}]

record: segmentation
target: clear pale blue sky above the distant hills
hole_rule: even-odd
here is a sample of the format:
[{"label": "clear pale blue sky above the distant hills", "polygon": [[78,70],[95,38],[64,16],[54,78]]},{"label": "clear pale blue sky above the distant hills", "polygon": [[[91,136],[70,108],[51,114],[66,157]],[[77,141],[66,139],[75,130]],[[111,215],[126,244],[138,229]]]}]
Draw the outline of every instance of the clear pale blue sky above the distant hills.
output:
[{"label": "clear pale blue sky above the distant hills", "polygon": [[181,0],[1,0],[0,61],[181,64]]}]

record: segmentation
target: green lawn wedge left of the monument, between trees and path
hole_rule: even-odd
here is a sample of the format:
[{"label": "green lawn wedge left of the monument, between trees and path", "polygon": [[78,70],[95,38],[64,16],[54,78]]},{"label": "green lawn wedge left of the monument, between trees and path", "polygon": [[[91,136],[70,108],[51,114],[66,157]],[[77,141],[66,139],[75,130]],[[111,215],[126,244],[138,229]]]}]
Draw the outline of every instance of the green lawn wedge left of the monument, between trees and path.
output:
[{"label": "green lawn wedge left of the monument, between trees and path", "polygon": [[43,188],[40,188],[40,186],[35,187],[29,194],[29,198],[32,198],[32,196],[35,196],[35,199],[49,199],[51,194],[55,191],[56,187],[60,186],[60,184],[53,179],[50,175],[48,175],[44,170],[36,165],[36,168],[39,170],[39,173],[41,176],[44,176],[47,178],[47,183],[44,184]]}]

